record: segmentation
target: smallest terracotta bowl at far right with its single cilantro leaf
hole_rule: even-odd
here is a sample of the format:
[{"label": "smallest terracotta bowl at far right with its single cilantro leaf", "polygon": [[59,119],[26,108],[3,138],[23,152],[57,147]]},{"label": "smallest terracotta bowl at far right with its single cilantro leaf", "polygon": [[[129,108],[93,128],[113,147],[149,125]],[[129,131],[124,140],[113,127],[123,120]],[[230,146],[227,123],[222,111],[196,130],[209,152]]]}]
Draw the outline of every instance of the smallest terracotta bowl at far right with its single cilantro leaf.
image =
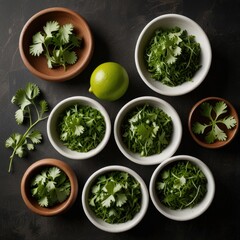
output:
[{"label": "smallest terracotta bowl at far right with its single cilantro leaf", "polygon": [[237,134],[238,126],[236,109],[220,97],[198,101],[189,113],[189,132],[202,147],[220,148],[229,144]]}]

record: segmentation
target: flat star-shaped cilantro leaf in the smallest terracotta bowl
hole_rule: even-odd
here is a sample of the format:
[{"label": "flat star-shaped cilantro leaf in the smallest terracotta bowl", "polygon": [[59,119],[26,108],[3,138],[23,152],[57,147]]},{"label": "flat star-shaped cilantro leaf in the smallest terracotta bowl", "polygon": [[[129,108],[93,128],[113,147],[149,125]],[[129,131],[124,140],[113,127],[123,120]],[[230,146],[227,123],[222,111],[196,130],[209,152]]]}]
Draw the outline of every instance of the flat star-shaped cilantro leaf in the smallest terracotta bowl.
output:
[{"label": "flat star-shaped cilantro leaf in the smallest terracotta bowl", "polygon": [[196,134],[204,134],[207,143],[213,143],[215,140],[226,141],[227,134],[223,127],[232,129],[237,124],[233,116],[227,115],[227,104],[224,101],[218,101],[215,105],[208,102],[202,103],[200,114],[203,122],[194,122],[192,130]]}]

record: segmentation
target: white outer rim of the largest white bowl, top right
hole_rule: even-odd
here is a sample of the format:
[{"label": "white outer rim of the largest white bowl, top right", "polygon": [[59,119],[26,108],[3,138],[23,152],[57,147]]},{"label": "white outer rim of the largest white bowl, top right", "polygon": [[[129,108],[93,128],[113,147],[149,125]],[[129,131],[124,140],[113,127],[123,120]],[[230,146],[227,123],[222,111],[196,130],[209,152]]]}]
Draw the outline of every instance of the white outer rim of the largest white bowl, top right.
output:
[{"label": "white outer rim of the largest white bowl, top right", "polygon": [[[201,79],[199,79],[198,81],[194,81],[194,84],[193,84],[193,81],[189,81],[189,82],[185,82],[185,83],[175,86],[175,87],[169,87],[167,85],[162,84],[161,82],[157,82],[158,86],[156,87],[155,85],[153,85],[154,83],[156,83],[156,80],[152,79],[151,77],[149,77],[150,79],[148,80],[145,77],[145,74],[143,73],[143,71],[141,70],[140,63],[139,63],[139,58],[140,58],[139,48],[142,43],[142,38],[144,37],[144,35],[146,34],[147,31],[150,31],[149,27],[156,24],[159,20],[166,20],[168,18],[176,18],[176,19],[178,19],[178,21],[180,21],[180,20],[188,21],[191,25],[194,26],[195,29],[198,30],[198,32],[201,34],[202,38],[204,39],[204,47],[201,47],[202,56],[204,54],[204,61],[202,61],[201,69],[204,68],[204,70],[199,69],[199,71],[196,73],[198,75],[200,75],[200,73],[201,73],[201,76],[200,76]],[[175,27],[175,25],[173,27]],[[157,27],[155,27],[155,29],[157,29]],[[197,36],[195,36],[195,37],[197,38]],[[145,25],[145,27],[142,29],[142,31],[137,39],[136,46],[135,46],[134,58],[135,58],[135,65],[136,65],[138,74],[140,75],[143,82],[150,89],[152,89],[153,91],[155,91],[159,94],[166,95],[166,96],[179,96],[179,95],[187,94],[190,91],[193,91],[204,81],[204,79],[206,78],[206,76],[209,72],[210,66],[211,66],[212,49],[211,49],[211,44],[210,44],[208,36],[206,35],[206,33],[204,32],[202,27],[197,22],[195,22],[191,18],[181,15],[181,14],[169,13],[169,14],[160,15],[160,16],[152,19],[149,23],[147,23]],[[148,73],[148,75],[150,76],[149,73]]]}]

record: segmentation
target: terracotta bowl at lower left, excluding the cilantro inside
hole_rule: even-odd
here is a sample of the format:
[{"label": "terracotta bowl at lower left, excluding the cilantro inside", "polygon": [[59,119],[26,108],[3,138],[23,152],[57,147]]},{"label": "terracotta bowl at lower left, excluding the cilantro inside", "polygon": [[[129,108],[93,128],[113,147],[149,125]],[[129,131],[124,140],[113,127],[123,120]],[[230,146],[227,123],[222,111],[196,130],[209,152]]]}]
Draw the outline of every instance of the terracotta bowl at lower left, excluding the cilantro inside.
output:
[{"label": "terracotta bowl at lower left, excluding the cilantro inside", "polygon": [[[36,174],[40,173],[43,168],[49,166],[58,167],[65,172],[65,174],[70,180],[71,193],[70,196],[64,202],[57,204],[56,206],[53,207],[44,208],[41,207],[37,203],[37,201],[32,197],[30,193],[30,188],[33,177],[36,176]],[[70,209],[70,207],[73,205],[77,198],[78,195],[77,177],[74,171],[67,163],[53,158],[42,159],[33,163],[24,173],[21,181],[21,195],[26,206],[36,214],[47,217],[62,214]]]}]

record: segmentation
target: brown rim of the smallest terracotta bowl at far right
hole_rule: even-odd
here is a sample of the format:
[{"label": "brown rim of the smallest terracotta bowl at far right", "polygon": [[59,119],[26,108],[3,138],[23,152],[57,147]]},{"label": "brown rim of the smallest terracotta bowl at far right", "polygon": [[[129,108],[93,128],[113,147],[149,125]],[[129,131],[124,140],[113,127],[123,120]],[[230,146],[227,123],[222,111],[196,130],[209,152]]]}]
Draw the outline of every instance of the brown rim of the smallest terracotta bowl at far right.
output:
[{"label": "brown rim of the smallest terracotta bowl at far right", "polygon": [[[196,134],[194,134],[193,131],[192,131],[192,121],[193,121],[193,118],[194,118],[194,114],[196,114],[197,108],[203,102],[209,102],[209,101],[210,102],[224,101],[228,106],[228,112],[230,113],[230,115],[234,116],[234,118],[237,121],[236,126],[233,129],[228,130],[228,132],[232,132],[232,134],[229,135],[227,133],[228,139],[226,141],[215,141],[214,143],[206,143],[206,142],[202,141],[201,138],[198,137]],[[221,147],[226,146],[227,144],[232,142],[232,140],[234,139],[235,135],[238,132],[238,128],[239,128],[238,113],[237,113],[236,109],[234,108],[234,106],[228,100],[226,100],[224,98],[221,98],[221,97],[206,97],[206,98],[203,98],[203,99],[199,100],[198,102],[196,102],[193,105],[192,109],[190,110],[189,117],[188,117],[188,130],[190,132],[190,135],[194,139],[194,141],[202,147],[210,148],[210,149],[216,149],[216,148],[221,148]]]}]

